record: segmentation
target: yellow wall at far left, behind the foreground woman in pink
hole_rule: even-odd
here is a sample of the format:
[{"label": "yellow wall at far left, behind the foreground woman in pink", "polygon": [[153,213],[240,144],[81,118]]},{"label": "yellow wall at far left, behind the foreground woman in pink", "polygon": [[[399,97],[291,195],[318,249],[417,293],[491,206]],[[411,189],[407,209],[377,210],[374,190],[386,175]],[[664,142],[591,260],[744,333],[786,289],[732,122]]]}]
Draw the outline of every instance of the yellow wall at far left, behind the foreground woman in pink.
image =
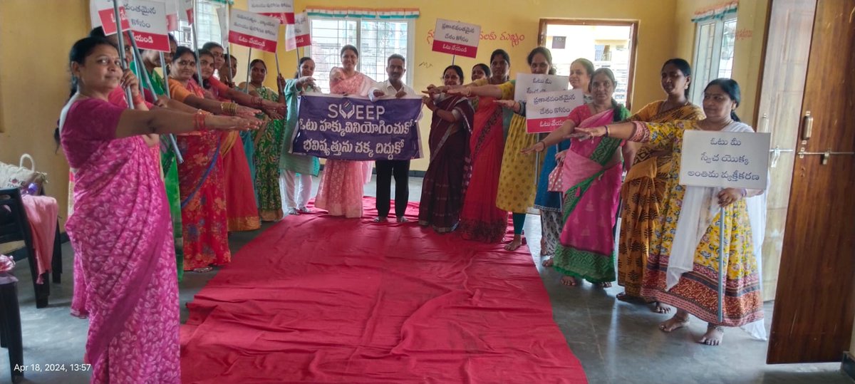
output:
[{"label": "yellow wall at far left, behind the foreground woman in pink", "polygon": [[[87,0],[3,0],[0,7],[0,162],[32,155],[64,216],[68,164],[53,139],[68,100],[68,50],[89,32]],[[38,19],[36,19],[38,15]],[[38,21],[38,22],[37,22]]]}]

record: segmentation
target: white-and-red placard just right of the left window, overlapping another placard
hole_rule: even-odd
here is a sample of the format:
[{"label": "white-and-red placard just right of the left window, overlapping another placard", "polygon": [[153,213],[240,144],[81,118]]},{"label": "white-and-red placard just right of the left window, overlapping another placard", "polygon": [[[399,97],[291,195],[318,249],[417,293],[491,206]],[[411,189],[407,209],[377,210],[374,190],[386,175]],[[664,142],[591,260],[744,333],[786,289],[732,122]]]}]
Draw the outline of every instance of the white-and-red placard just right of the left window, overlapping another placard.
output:
[{"label": "white-and-red placard just right of the left window, overlapping another placard", "polygon": [[278,19],[245,10],[232,9],[229,22],[231,23],[228,27],[229,43],[266,52],[276,51],[280,26]]}]

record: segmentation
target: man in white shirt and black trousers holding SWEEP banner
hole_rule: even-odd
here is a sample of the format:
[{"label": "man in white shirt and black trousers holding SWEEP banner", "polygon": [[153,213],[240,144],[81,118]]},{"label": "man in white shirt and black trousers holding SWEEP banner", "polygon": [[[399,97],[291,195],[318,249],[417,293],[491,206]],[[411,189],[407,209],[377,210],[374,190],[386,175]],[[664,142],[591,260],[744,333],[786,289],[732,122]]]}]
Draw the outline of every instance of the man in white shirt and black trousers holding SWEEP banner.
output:
[{"label": "man in white shirt and black trousers holding SWEEP banner", "polygon": [[[386,74],[389,80],[376,83],[369,90],[369,98],[416,96],[401,78],[407,72],[404,56],[394,54],[386,59]],[[374,222],[386,222],[389,215],[389,199],[392,191],[392,174],[395,175],[395,217],[398,222],[407,222],[404,214],[410,198],[410,160],[377,160],[377,217]]]}]

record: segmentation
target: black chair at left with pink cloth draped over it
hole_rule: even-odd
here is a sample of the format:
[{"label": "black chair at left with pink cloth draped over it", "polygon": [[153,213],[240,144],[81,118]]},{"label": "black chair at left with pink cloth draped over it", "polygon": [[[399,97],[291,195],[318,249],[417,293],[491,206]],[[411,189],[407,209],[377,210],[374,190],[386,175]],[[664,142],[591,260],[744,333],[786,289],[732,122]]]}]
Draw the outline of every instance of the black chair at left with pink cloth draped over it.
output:
[{"label": "black chair at left with pink cloth draped over it", "polygon": [[[24,248],[11,252],[10,256],[15,258],[15,261],[27,258],[30,264],[30,275],[32,275],[32,287],[36,293],[36,308],[44,308],[48,306],[48,296],[50,296],[50,273],[44,273],[44,284],[36,283],[38,281],[36,250],[32,245],[30,222],[27,220],[27,211],[24,210],[24,202],[21,200],[21,191],[17,188],[0,189],[0,212],[2,212],[0,213],[0,244],[13,241],[24,242]],[[62,251],[59,257],[56,257],[56,244],[57,240],[54,241],[53,259],[60,259],[62,263]],[[58,270],[62,270],[62,264]]]}]

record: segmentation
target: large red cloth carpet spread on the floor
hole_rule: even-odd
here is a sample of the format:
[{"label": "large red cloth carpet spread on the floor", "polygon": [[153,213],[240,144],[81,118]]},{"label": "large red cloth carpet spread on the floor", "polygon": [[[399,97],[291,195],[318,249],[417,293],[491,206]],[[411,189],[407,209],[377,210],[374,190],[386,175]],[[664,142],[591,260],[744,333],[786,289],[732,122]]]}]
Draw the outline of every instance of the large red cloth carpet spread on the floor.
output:
[{"label": "large red cloth carpet spread on the floor", "polygon": [[363,205],[245,245],[187,304],[182,381],[587,382],[526,246],[434,233],[412,203],[410,222],[375,224]]}]

